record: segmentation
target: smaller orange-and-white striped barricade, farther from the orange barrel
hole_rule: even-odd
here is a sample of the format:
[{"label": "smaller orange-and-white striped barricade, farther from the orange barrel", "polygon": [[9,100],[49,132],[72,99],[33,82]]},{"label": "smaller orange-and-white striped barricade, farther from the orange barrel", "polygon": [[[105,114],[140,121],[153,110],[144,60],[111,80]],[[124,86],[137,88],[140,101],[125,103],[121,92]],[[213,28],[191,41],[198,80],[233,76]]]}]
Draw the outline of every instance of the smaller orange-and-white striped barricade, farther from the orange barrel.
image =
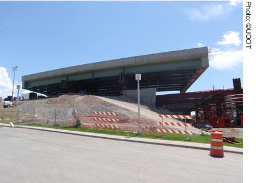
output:
[{"label": "smaller orange-and-white striped barricade, farther from the orange barrel", "polygon": [[[96,115],[112,115],[112,116],[118,116],[118,112],[98,112],[98,111],[93,111],[92,114]],[[119,120],[117,118],[104,118],[104,117],[94,117],[93,118],[95,121],[107,121],[107,122],[114,122],[114,125],[100,125],[100,124],[94,124],[95,127],[105,127],[105,128],[113,128],[114,132],[115,129],[118,128],[118,125],[115,125],[115,122],[118,122]]]}]

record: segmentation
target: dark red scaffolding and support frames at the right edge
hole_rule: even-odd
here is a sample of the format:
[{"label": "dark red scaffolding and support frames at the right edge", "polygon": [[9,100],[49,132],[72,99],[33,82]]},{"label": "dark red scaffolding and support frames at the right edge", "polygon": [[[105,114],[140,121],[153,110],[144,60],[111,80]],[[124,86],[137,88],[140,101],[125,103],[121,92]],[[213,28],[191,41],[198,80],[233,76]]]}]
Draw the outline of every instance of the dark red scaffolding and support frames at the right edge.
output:
[{"label": "dark red scaffolding and support frames at the right edge", "polygon": [[243,94],[240,78],[233,79],[234,93],[211,95],[195,109],[197,124],[217,128],[243,127]]}]

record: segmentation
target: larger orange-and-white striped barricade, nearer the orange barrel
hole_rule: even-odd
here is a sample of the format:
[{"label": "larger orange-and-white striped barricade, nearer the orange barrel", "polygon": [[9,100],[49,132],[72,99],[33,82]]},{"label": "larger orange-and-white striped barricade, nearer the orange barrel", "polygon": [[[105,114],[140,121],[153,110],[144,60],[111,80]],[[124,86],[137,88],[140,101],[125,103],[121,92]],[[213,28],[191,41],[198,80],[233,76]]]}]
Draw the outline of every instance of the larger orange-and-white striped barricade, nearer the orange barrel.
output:
[{"label": "larger orange-and-white striped barricade, nearer the orange barrel", "polygon": [[[192,135],[191,131],[187,131],[187,127],[192,127],[191,124],[187,124],[187,119],[192,119],[190,115],[165,115],[165,114],[158,114],[159,118],[162,118],[162,122],[157,122],[158,125],[172,125],[172,126],[177,126],[177,127],[185,127],[185,131],[179,131],[179,130],[165,130],[165,129],[157,129],[158,132],[163,132],[165,133],[173,133],[173,134],[185,134],[185,139],[187,138],[187,135]],[[164,122],[164,118],[174,118],[174,119],[185,119],[185,123],[183,122]],[[184,139],[184,140],[185,140]]]}]

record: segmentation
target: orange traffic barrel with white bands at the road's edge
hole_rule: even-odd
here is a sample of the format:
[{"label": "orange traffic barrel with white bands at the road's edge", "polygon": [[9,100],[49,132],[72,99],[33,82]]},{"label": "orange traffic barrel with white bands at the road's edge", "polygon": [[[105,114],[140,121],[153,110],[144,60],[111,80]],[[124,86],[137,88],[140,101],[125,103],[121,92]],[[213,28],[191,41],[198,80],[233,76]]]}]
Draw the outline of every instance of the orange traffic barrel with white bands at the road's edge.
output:
[{"label": "orange traffic barrel with white bands at the road's edge", "polygon": [[210,155],[214,157],[224,157],[223,137],[221,131],[211,131]]}]

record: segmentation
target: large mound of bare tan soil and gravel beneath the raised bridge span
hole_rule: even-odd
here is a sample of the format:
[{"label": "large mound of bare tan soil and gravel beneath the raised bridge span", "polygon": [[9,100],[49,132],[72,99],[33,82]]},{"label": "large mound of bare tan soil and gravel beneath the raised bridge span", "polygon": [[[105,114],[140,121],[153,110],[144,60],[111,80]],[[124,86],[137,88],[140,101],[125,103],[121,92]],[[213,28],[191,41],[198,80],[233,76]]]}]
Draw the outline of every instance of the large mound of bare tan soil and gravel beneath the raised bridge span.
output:
[{"label": "large mound of bare tan soil and gravel beneath the raised bridge span", "polygon": [[[74,115],[68,116],[68,109],[74,108],[78,114],[78,118],[82,126],[95,128],[94,124],[109,124],[113,125],[113,122],[94,121],[92,117],[105,117],[105,118],[118,118],[118,122],[115,125],[119,126],[119,129],[126,129],[127,131],[138,131],[138,104],[132,98],[126,96],[120,97],[99,97],[95,95],[85,94],[65,94],[59,97],[24,100],[18,102],[19,108],[22,109],[21,114],[25,116],[30,114],[36,114],[36,119],[33,117],[23,118],[24,122],[36,121],[42,125],[74,125]],[[14,107],[16,102],[14,101]],[[99,112],[118,112],[118,116],[111,115],[94,115],[93,111]],[[162,128],[161,125],[157,125],[158,121],[162,121],[162,118],[158,117],[158,114],[172,114],[167,109],[155,108],[149,104],[140,105],[140,122],[141,131],[157,131],[158,128]],[[184,122],[181,119],[164,118],[165,122]],[[1,122],[1,121],[0,121]],[[185,131],[185,127],[164,126],[164,129],[176,129]],[[233,128],[232,128],[233,129]],[[192,131],[193,134],[201,135],[207,132],[194,127],[187,127],[187,131]],[[224,129],[223,131],[228,131]],[[234,130],[233,130],[234,131]],[[242,129],[240,128],[240,131]],[[208,132],[209,133],[209,132]],[[228,137],[242,138],[242,133],[237,132],[236,136],[230,132]]]}]

